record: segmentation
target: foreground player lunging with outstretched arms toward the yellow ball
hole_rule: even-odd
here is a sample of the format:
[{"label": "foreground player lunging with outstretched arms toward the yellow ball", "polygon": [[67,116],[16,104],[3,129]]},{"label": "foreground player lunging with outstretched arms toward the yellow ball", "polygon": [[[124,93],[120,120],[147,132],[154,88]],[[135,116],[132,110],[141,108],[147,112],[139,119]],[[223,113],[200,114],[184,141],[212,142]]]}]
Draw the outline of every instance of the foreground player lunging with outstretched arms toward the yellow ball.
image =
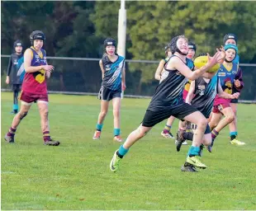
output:
[{"label": "foreground player lunging with outstretched arms toward the yellow ball", "polygon": [[187,38],[183,35],[176,36],[171,40],[170,46],[173,55],[164,66],[165,71],[168,72],[167,77],[156,88],[140,126],[131,132],[126,138],[126,142],[114,152],[110,162],[111,171],[118,170],[121,159],[135,142],[143,138],[155,124],[168,119],[171,115],[180,120],[197,124],[197,131],[193,137],[192,147],[187,153],[186,162],[193,166],[206,168],[206,165],[199,159],[199,152],[207,120],[196,108],[183,101],[183,87],[187,78],[195,80],[219,62],[222,57],[220,52],[217,52],[214,57],[209,57],[205,66],[192,72],[194,64],[191,59],[186,57],[187,45]]}]

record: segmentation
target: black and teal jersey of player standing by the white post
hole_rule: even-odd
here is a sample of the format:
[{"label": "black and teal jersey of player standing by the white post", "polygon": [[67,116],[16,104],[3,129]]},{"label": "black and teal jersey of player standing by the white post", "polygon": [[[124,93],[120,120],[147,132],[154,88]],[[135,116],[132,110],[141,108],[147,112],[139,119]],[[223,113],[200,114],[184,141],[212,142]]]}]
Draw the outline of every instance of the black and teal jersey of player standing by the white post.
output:
[{"label": "black and teal jersey of player standing by the white post", "polygon": [[118,58],[115,62],[108,59],[107,54],[102,57],[102,65],[104,68],[104,78],[102,87],[107,87],[111,90],[121,90],[121,72],[125,65],[125,58],[116,54]]}]

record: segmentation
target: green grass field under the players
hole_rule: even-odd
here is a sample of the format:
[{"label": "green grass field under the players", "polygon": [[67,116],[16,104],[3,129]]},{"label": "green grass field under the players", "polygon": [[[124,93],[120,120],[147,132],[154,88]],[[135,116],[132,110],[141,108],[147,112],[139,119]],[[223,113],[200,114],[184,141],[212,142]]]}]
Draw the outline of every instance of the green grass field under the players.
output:
[{"label": "green grass field under the players", "polygon": [[[206,170],[180,171],[188,146],[176,152],[173,139],[161,138],[163,122],[112,173],[109,162],[120,143],[112,141],[111,109],[102,138],[92,140],[100,109],[95,96],[50,95],[50,133],[59,147],[43,145],[36,105],[17,129],[16,143],[5,143],[12,94],[2,93],[1,103],[2,209],[256,209],[255,105],[239,105],[239,138],[247,144],[231,145],[225,129],[214,152],[203,154]],[[124,138],[148,104],[122,101]]]}]

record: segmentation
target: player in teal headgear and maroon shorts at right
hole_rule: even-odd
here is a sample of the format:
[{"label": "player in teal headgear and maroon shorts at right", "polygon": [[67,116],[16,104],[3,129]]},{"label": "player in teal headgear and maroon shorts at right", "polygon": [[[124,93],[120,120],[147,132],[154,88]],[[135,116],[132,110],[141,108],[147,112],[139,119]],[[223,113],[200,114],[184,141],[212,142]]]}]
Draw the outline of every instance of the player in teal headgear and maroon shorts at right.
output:
[{"label": "player in teal headgear and maroon shorts at right", "polygon": [[[220,65],[220,69],[218,70],[218,77],[220,78],[220,86],[223,91],[228,94],[232,94],[234,89],[233,87],[239,88],[240,83],[235,80],[235,76],[238,69],[238,64],[233,62],[236,54],[238,54],[238,49],[236,45],[225,45],[225,61]],[[225,117],[221,120],[222,115]],[[224,99],[220,96],[216,96],[214,101],[214,106],[212,110],[211,121],[209,123],[211,127],[211,136],[212,136],[212,144],[214,143],[215,138],[220,133],[221,129],[224,129],[227,124],[230,124],[235,120],[235,114],[230,107],[230,100]],[[235,145],[244,145],[245,143],[240,142],[237,139],[230,140],[230,143]],[[209,152],[211,152],[211,147],[208,148]]]}]

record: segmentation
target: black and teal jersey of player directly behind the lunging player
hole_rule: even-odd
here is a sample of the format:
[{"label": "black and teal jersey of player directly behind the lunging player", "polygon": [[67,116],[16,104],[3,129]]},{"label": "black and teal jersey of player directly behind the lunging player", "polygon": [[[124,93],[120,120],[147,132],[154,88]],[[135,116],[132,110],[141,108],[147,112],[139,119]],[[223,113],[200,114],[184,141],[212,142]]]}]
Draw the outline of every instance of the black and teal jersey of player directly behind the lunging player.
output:
[{"label": "black and teal jersey of player directly behind the lunging player", "polygon": [[209,118],[211,114],[213,102],[218,90],[218,83],[219,77],[217,74],[209,82],[206,82],[203,77],[198,77],[195,80],[195,91],[191,105],[201,111],[206,118]]}]

